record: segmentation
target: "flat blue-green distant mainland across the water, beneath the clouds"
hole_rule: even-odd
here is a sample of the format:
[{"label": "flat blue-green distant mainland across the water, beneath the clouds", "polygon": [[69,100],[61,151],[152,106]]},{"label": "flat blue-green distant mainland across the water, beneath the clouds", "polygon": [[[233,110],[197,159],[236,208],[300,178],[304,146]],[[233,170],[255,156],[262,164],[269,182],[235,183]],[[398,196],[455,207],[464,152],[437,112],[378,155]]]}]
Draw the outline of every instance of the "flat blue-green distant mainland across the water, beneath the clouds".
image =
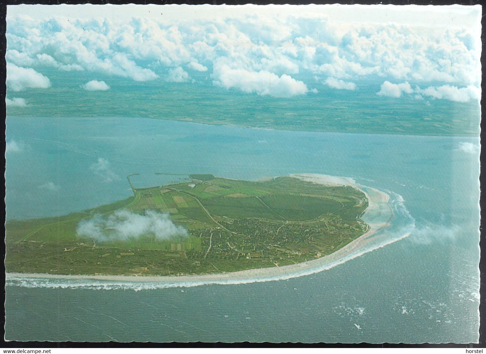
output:
[{"label": "flat blue-green distant mainland across the water, beneath the clouds", "polygon": [[[44,68],[43,74],[59,82],[78,82],[82,71]],[[197,76],[197,75],[200,76]],[[313,82],[318,93],[289,99],[241,94],[206,82],[206,73],[191,74],[198,85],[147,81],[133,86],[133,81],[113,76],[104,78],[123,89],[84,91],[79,86],[52,85],[49,90],[16,93],[29,102],[26,106],[8,106],[11,118],[82,117],[156,118],[215,125],[236,125],[261,129],[310,132],[400,135],[478,136],[481,109],[477,101],[417,100],[410,97],[383,97],[376,93],[379,83],[365,82],[353,91],[336,90],[315,82],[312,76],[301,80]],[[201,85],[201,86],[199,86]],[[63,98],[63,102],[59,101]],[[163,104],[154,97],[163,97]],[[188,100],[188,98],[191,98]],[[69,102],[69,104],[65,104]],[[62,109],[60,109],[62,107]]]}]

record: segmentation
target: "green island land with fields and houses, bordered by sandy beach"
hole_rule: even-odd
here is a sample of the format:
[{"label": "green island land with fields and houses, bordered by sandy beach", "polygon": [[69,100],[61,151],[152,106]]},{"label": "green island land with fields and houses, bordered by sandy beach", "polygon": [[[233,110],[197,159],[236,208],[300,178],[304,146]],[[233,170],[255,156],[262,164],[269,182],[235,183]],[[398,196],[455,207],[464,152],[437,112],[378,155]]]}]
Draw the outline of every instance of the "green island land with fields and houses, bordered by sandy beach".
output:
[{"label": "green island land with fields and houses, bordered by sandy beach", "polygon": [[[368,227],[360,219],[366,197],[349,186],[292,177],[190,177],[192,182],[134,189],[134,197],[67,216],[8,221],[6,270],[177,275],[276,267],[330,254]],[[120,213],[135,220],[147,211],[187,233],[161,238],[150,229],[126,236],[131,224],[123,230],[119,221],[109,224]],[[81,224],[96,222],[104,225],[99,235],[79,235]]]}]

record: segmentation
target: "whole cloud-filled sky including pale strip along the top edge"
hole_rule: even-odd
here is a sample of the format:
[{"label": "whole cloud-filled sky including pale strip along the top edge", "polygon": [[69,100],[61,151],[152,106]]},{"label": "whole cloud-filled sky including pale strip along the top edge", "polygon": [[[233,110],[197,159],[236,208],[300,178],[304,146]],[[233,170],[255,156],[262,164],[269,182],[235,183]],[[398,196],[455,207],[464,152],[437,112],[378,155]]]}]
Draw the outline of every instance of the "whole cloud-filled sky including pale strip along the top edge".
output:
[{"label": "whole cloud-filled sky including pale strip along the top edge", "polygon": [[203,76],[268,97],[373,82],[377,97],[474,101],[480,21],[479,5],[9,5],[6,102],[28,105],[16,93],[49,90],[52,70],[90,73],[88,91]]}]

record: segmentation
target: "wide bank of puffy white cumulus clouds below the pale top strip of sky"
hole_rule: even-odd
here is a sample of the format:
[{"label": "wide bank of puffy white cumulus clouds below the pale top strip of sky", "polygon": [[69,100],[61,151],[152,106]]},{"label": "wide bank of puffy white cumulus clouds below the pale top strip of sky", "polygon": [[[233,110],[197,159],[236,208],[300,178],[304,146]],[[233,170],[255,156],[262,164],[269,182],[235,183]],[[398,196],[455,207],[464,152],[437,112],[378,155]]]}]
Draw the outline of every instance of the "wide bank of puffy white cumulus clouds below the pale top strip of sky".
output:
[{"label": "wide bank of puffy white cumulus clouds below the pale top strip of sky", "polygon": [[[351,87],[350,80],[366,78],[422,87],[434,85],[438,87],[426,95],[459,101],[465,100],[467,93],[447,93],[449,87],[439,87],[449,85],[461,90],[480,86],[482,48],[474,26],[347,23],[309,11],[279,17],[264,12],[238,16],[227,13],[216,21],[204,14],[190,21],[128,15],[123,19],[33,19],[12,15],[7,17],[6,59],[25,70],[39,71],[37,67],[49,66],[103,72],[136,81],[154,80],[158,73],[174,67],[171,70],[176,71],[170,77],[187,80],[189,75],[184,76],[182,67],[196,71],[215,67],[215,84],[269,95],[273,89],[265,90],[268,85],[254,89],[243,79],[228,84],[221,65],[252,77],[271,73],[278,78],[273,79],[278,87],[287,86],[281,90],[285,95],[292,95],[290,86],[300,86],[295,94],[306,90],[304,83],[291,83],[294,79],[289,75],[297,73],[343,80],[344,84],[332,80],[330,84],[343,89]],[[385,84],[382,95],[400,97],[407,92],[391,85]],[[20,90],[28,86],[15,87]]]}]

